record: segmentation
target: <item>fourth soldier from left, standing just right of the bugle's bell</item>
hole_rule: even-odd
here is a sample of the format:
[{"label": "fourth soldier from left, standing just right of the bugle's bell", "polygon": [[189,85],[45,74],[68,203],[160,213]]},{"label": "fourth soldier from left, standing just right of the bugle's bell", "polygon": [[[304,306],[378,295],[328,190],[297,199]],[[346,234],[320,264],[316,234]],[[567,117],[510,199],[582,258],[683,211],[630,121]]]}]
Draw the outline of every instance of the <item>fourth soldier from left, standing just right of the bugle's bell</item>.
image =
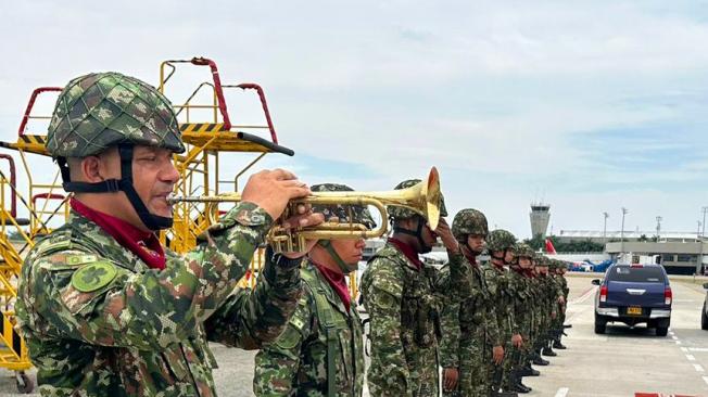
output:
[{"label": "fourth soldier from left, standing just right of the bugle's bell", "polygon": [[[489,234],[486,218],[477,209],[462,209],[455,215],[452,230],[472,269],[472,294],[462,302],[447,299],[443,309],[440,343],[443,395],[488,396],[492,386],[484,362],[486,350],[494,350],[495,355],[489,356],[501,362],[504,348],[496,318],[492,319],[494,304],[486,291],[482,268],[477,262]],[[450,271],[450,266],[443,267],[442,271]]]}]

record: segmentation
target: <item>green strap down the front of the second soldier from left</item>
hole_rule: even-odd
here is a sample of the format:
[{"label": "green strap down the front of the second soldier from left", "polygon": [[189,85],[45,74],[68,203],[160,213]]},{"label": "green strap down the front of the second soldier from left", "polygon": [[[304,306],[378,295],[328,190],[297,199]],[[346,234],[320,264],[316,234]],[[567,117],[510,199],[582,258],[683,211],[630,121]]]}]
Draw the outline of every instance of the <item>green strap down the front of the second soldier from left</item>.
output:
[{"label": "green strap down the front of the second soldier from left", "polygon": [[302,271],[302,279],[309,286],[309,290],[315,295],[315,306],[317,310],[317,318],[325,326],[325,337],[327,338],[327,396],[334,397],[337,386],[337,367],[334,362],[334,355],[337,354],[337,344],[339,342],[337,335],[338,321],[334,319],[334,310],[327,300],[326,292],[317,282],[317,276],[314,271],[305,269]]}]

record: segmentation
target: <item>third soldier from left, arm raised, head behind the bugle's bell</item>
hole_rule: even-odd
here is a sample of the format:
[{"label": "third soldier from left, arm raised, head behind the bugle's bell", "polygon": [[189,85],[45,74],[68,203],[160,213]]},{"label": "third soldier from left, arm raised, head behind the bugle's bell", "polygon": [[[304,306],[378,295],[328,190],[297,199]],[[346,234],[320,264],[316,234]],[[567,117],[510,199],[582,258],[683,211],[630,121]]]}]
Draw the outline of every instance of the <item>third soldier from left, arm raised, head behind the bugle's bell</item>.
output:
[{"label": "third soldier from left, arm raised, head behind the bugle's bell", "polygon": [[[406,180],[404,189],[419,180]],[[387,208],[393,235],[369,260],[362,276],[362,297],[371,320],[371,364],[367,380],[371,396],[438,396],[438,341],[440,298],[438,293],[470,293],[470,269],[464,265],[457,241],[442,218],[433,231],[420,214],[397,206]],[[428,253],[442,239],[450,257],[450,278],[423,264],[418,254]]]}]

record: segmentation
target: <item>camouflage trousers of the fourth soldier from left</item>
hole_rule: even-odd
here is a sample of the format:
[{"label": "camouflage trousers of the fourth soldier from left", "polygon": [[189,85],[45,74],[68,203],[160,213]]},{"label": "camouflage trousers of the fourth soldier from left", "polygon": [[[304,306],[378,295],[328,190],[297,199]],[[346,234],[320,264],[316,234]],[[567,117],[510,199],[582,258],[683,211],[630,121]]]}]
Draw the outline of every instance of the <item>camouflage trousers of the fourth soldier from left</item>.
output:
[{"label": "camouflage trousers of the fourth soldier from left", "polygon": [[[488,371],[492,361],[492,346],[485,341],[483,330],[465,335],[459,341],[459,377],[457,390],[443,392],[444,397],[486,397],[491,385]],[[489,350],[489,361],[488,351]]]}]

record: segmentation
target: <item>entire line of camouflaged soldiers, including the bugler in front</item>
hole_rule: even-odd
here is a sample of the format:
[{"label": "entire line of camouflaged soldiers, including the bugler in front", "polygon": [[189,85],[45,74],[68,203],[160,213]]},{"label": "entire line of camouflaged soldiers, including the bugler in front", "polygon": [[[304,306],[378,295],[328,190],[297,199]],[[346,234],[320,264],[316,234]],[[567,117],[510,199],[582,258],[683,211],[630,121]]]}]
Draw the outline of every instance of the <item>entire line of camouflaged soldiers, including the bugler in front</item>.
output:
[{"label": "entire line of camouflaged soldiers, including the bugler in front", "polygon": [[[256,396],[362,396],[365,384],[371,396],[514,396],[530,392],[532,364],[565,348],[565,265],[490,232],[477,209],[448,226],[442,196],[439,219],[387,208],[392,233],[362,274],[359,302],[347,277],[362,238],[268,246],[256,286],[237,289],[275,226],[375,227],[364,206],[304,205],[281,218],[293,198],[352,191],[343,184],[257,172],[193,251],[169,252],[157,235],[172,226],[172,156],[185,145],[169,101],[136,78],[69,81],[47,150],[73,193],[71,216],[27,255],[16,306],[42,396],[215,396],[207,342],[258,350]],[[439,240],[441,269],[419,257]]]}]

